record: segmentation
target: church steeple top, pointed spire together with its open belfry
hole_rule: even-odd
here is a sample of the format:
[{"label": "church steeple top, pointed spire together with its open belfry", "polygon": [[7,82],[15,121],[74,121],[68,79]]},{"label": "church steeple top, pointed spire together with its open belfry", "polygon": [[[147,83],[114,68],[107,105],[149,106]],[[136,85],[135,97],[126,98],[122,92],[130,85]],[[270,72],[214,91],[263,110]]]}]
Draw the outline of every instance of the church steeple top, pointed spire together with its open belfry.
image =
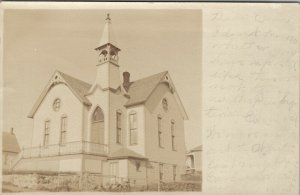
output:
[{"label": "church steeple top, pointed spire together with its open belfry", "polygon": [[95,48],[95,50],[99,52],[99,63],[111,61],[116,65],[118,64],[118,52],[120,49],[116,45],[117,44],[111,27],[111,19],[109,14],[107,14],[102,37],[98,46]]}]

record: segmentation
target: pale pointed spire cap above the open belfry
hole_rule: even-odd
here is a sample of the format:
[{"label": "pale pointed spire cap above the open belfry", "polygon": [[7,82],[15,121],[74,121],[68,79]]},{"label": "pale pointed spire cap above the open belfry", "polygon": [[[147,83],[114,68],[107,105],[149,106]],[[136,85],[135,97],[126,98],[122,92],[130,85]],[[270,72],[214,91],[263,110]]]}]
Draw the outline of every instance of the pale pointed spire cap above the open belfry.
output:
[{"label": "pale pointed spire cap above the open belfry", "polygon": [[111,19],[110,19],[109,13],[106,16],[105,24],[104,24],[104,28],[103,28],[103,32],[102,32],[102,37],[100,39],[98,46],[96,47],[96,50],[108,43],[117,47],[116,41],[115,41],[115,38],[113,35],[112,27],[111,27]]}]

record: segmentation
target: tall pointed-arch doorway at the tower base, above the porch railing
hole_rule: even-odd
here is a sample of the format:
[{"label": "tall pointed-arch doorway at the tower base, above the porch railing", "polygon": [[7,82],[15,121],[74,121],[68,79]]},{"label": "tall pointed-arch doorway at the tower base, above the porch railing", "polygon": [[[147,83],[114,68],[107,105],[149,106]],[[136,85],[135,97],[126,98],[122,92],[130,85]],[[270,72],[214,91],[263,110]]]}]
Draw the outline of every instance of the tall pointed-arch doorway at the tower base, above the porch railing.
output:
[{"label": "tall pointed-arch doorway at the tower base, above the porch railing", "polygon": [[104,144],[104,114],[100,107],[93,113],[90,140],[92,143]]}]

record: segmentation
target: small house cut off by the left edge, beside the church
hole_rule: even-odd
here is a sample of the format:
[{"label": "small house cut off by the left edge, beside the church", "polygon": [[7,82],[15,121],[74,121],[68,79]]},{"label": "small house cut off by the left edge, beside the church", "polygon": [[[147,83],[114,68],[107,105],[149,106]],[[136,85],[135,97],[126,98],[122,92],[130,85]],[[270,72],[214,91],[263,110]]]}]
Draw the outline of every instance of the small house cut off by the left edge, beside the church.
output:
[{"label": "small house cut off by the left edge, beside the church", "polygon": [[14,160],[21,150],[13,128],[10,132],[2,133],[2,140],[2,170],[7,172],[11,170]]}]

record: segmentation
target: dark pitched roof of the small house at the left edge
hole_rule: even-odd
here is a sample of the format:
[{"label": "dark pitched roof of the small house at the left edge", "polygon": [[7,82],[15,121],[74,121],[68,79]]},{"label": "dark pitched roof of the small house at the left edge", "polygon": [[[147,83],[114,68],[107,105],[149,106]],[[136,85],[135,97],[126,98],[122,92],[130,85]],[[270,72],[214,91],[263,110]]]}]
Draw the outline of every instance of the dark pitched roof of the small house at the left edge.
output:
[{"label": "dark pitched roof of the small house at the left edge", "polygon": [[16,138],[16,135],[14,133],[10,132],[3,132],[2,133],[2,140],[3,140],[3,152],[14,152],[14,153],[19,153],[20,146],[18,144],[18,140]]}]

